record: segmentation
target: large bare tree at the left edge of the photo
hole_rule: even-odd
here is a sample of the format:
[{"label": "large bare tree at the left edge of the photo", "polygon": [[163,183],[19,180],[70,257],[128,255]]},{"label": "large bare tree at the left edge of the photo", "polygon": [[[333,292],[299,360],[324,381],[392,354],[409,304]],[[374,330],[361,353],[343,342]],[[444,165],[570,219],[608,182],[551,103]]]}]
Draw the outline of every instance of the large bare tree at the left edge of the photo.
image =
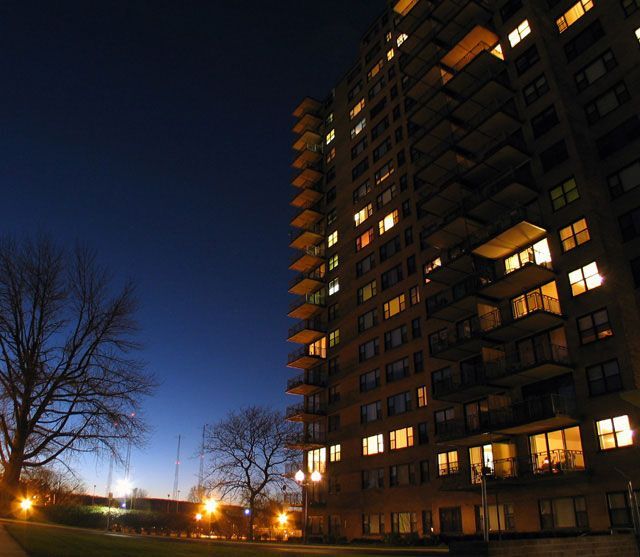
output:
[{"label": "large bare tree at the left edge of the photo", "polygon": [[110,283],[86,249],[0,239],[0,511],[24,469],[144,437],[154,380],[132,356],[133,287]]}]

